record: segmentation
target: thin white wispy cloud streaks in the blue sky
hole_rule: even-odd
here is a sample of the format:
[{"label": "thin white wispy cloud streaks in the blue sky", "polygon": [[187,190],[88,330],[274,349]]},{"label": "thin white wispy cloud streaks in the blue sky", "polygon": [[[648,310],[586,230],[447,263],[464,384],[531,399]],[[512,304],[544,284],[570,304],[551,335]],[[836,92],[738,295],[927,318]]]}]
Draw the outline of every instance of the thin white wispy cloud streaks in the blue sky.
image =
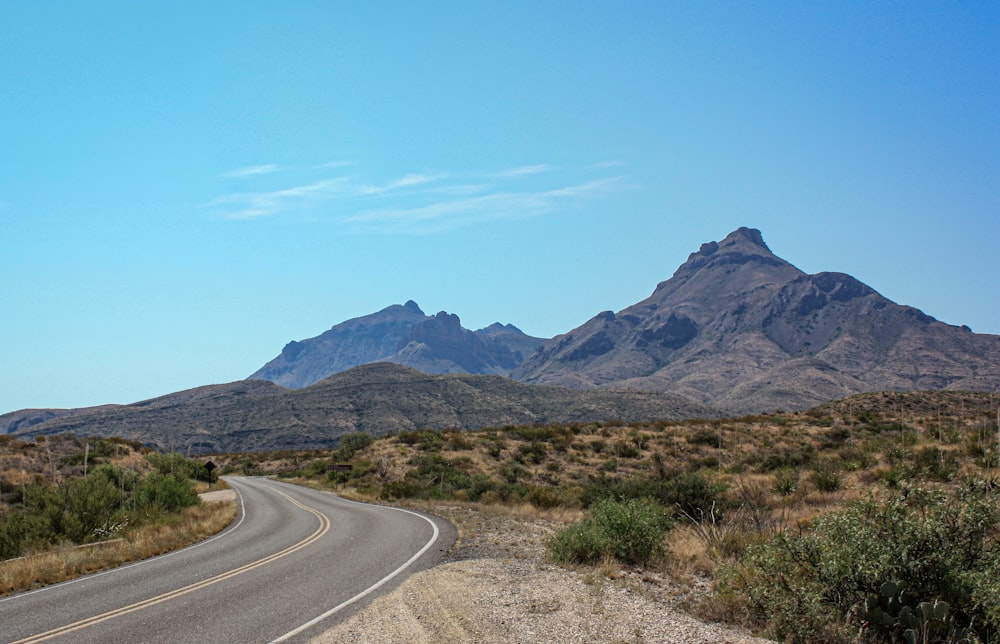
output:
[{"label": "thin white wispy cloud streaks in the blue sky", "polygon": [[[429,234],[501,219],[524,219],[569,210],[602,196],[629,189],[602,167],[553,168],[524,165],[491,173],[405,173],[369,181],[330,176],[352,165],[323,164],[299,174],[321,175],[279,190],[234,192],[214,199],[213,211],[228,219],[276,215],[317,215],[348,230],[365,233]],[[244,168],[238,176],[267,174]],[[293,174],[292,171],[288,172]],[[322,177],[322,175],[327,175]]]}]

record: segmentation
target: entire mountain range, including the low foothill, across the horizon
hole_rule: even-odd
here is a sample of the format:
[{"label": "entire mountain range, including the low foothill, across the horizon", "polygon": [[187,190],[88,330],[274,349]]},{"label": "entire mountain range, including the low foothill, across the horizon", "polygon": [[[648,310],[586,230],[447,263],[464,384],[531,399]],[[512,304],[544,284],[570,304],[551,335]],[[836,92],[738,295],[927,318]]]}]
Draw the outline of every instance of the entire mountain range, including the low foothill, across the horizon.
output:
[{"label": "entire mountain range, including the low foothill, across the horizon", "polygon": [[290,342],[246,381],[22,410],[0,416],[0,432],[253,451],[354,431],[718,417],[863,392],[997,388],[1000,336],[939,322],[850,275],[806,274],[740,228],[645,300],[551,340],[509,324],[470,331],[410,301]]}]

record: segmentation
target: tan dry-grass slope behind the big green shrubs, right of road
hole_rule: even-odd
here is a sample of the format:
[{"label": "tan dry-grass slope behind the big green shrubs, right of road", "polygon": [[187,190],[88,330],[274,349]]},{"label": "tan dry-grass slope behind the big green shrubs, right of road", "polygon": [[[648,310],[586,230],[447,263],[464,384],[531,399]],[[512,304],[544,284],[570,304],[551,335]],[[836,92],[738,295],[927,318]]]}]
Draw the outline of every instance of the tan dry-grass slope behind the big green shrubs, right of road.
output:
[{"label": "tan dry-grass slope behind the big green shrubs, right of road", "polygon": [[[746,546],[786,529],[807,528],[818,515],[872,489],[937,476],[928,470],[934,459],[919,458],[925,449],[939,450],[942,464],[956,463],[953,479],[930,480],[995,479],[1000,473],[997,403],[985,393],[876,393],[806,412],[732,419],[445,430],[426,441],[416,436],[422,432],[409,432],[376,439],[358,451],[350,459],[357,475],[335,482],[323,472],[313,485],[368,500],[398,482],[426,485],[431,480],[444,488],[443,476],[414,477],[433,456],[453,471],[494,484],[469,507],[562,524],[582,516],[587,486],[697,471],[727,489],[719,499],[724,512],[714,519],[682,519],[667,545],[683,574],[704,575],[740,556]],[[992,454],[993,464],[984,454]],[[319,459],[344,460],[336,452],[320,451],[220,456],[216,462],[239,471],[237,464],[252,461],[254,471],[247,473],[282,475]],[[512,495],[517,486],[528,492]],[[443,503],[457,506],[474,498],[465,489],[453,494]],[[540,509],[526,501],[556,507]],[[398,502],[421,503],[413,498]]]}]

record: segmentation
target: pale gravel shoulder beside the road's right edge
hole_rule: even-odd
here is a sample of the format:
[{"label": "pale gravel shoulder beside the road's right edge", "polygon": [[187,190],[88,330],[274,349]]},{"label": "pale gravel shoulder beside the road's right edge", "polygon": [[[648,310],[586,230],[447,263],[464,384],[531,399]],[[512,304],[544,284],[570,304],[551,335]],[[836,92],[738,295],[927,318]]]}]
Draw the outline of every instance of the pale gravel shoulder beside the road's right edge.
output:
[{"label": "pale gravel shoulder beside the road's right edge", "polygon": [[413,575],[314,642],[767,641],[685,613],[690,590],[660,575],[547,563],[545,540],[559,523],[462,506],[420,509],[459,530],[446,563]]}]

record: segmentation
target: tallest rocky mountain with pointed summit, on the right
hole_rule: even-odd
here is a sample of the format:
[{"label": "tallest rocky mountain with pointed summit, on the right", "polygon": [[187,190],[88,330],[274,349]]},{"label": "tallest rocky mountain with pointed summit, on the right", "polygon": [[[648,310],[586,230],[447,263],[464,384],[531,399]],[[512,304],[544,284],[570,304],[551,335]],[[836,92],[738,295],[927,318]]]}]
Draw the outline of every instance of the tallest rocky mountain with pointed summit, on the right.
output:
[{"label": "tallest rocky mountain with pointed summit, on the right", "polygon": [[740,228],[645,300],[544,343],[511,376],[670,391],[729,411],[806,409],[868,391],[995,388],[1000,336],[939,322],[850,275],[808,275]]}]

